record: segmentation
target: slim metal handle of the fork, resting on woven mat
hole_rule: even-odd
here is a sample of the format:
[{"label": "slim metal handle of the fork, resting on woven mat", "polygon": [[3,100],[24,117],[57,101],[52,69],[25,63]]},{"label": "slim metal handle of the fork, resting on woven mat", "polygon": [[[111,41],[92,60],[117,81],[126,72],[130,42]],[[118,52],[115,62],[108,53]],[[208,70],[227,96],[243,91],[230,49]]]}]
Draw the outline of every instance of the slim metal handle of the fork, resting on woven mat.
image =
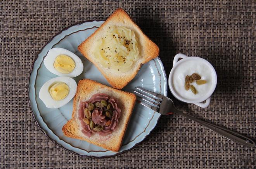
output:
[{"label": "slim metal handle of the fork, resting on woven mat", "polygon": [[208,122],[204,122],[202,120],[199,120],[198,118],[192,117],[192,116],[187,115],[187,114],[185,114],[183,112],[180,112],[178,110],[173,112],[173,113],[176,113],[176,114],[182,115],[184,117],[190,118],[191,120],[194,120],[195,122],[200,123],[201,125],[204,125],[204,126],[208,127],[210,130],[222,135],[223,137],[226,137],[229,140],[233,140],[234,142],[238,142],[238,143],[240,143],[242,145],[245,145],[245,146],[248,146],[248,147],[255,147],[255,142],[253,140],[249,139],[248,137],[242,135],[242,134],[239,134],[237,132],[234,132],[234,131],[229,130],[229,129],[224,128],[224,127],[220,127],[220,126],[208,123]]}]

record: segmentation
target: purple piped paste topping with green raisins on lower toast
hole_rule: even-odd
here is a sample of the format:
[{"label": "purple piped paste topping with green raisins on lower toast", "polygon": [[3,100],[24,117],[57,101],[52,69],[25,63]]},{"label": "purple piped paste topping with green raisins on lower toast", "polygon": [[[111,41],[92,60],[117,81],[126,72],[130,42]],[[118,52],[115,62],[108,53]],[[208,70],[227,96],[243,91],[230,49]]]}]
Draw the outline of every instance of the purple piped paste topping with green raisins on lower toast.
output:
[{"label": "purple piped paste topping with green raisins on lower toast", "polygon": [[106,136],[115,130],[121,109],[110,96],[100,93],[93,95],[90,100],[81,102],[78,118],[82,132],[87,137],[93,133]]}]

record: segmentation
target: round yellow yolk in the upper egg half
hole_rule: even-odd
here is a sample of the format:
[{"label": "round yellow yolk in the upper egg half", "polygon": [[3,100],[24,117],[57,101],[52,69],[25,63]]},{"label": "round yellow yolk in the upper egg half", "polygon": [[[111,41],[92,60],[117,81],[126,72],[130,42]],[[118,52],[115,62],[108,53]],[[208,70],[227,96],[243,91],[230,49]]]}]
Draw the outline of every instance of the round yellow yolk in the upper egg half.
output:
[{"label": "round yellow yolk in the upper egg half", "polygon": [[54,68],[60,73],[69,74],[75,68],[74,60],[64,54],[61,54],[55,58]]}]

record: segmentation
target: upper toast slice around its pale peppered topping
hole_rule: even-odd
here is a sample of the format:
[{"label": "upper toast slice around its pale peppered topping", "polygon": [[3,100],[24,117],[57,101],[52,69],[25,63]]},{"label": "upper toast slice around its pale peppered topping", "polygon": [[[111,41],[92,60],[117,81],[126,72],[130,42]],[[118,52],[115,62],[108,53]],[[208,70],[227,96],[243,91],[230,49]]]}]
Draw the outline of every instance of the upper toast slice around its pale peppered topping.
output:
[{"label": "upper toast slice around its pale peppered topping", "polygon": [[[138,39],[139,59],[126,72],[116,72],[111,67],[104,67],[95,59],[93,54],[95,42],[104,37],[109,27],[113,26],[132,30]],[[159,47],[142,32],[122,8],[118,8],[90,37],[83,41],[78,46],[78,50],[99,69],[109,84],[117,89],[125,87],[136,76],[142,64],[159,55]]]}]

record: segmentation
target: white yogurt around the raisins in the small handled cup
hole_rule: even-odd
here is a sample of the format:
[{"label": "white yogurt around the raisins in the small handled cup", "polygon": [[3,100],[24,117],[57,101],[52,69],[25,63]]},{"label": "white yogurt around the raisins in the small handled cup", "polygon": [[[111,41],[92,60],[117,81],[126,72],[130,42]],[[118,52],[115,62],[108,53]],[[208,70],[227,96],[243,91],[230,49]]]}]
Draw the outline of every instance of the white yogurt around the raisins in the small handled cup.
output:
[{"label": "white yogurt around the raisins in the small handled cup", "polygon": [[[195,86],[197,90],[196,95],[192,93],[192,91],[185,90],[185,77],[187,75],[191,75],[193,73],[197,73],[201,76],[201,80],[206,80],[206,83],[203,85],[197,85],[195,80],[190,83],[190,85]],[[179,66],[174,69],[172,76],[173,88],[176,93],[184,99],[187,100],[198,100],[211,92],[211,88],[213,85],[213,71],[206,65],[204,62],[199,60],[187,60],[182,62]]]}]

